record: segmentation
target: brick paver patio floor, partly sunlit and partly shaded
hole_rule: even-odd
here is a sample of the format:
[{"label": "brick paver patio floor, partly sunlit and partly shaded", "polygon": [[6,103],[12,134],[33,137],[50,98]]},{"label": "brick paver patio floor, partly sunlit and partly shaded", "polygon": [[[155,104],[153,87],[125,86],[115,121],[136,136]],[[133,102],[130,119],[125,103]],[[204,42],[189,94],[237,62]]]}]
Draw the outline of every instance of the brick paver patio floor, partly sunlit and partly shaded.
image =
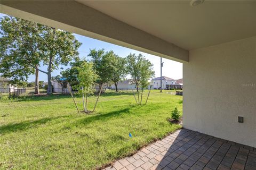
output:
[{"label": "brick paver patio floor, partly sunlit and partly shaded", "polygon": [[256,169],[256,148],[181,129],[105,169]]}]

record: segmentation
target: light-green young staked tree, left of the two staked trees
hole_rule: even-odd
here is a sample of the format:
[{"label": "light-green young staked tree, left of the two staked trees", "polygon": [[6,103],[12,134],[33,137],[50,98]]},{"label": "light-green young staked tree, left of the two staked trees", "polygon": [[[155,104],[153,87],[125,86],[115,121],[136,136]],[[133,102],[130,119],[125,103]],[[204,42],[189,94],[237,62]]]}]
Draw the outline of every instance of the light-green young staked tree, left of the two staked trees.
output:
[{"label": "light-green young staked tree, left of the two staked trees", "polygon": [[[77,67],[77,71],[78,84],[75,86],[75,89],[83,95],[84,112],[87,113],[87,96],[95,91],[94,82],[98,79],[98,75],[93,69],[93,63],[91,62],[83,62],[80,67]],[[86,96],[85,103],[84,95]]]}]

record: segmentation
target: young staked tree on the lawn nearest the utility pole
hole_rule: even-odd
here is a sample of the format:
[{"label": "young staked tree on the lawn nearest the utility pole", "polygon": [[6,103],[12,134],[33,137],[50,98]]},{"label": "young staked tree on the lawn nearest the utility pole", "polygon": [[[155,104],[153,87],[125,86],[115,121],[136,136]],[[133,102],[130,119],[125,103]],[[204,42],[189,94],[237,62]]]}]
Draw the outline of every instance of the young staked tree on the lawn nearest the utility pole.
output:
[{"label": "young staked tree on the lawn nearest the utility pole", "polygon": [[[139,54],[138,56],[130,54],[127,56],[127,70],[137,86],[138,104],[142,104],[143,89],[147,88],[149,79],[153,78],[155,75],[153,64],[146,60],[142,54]],[[141,87],[141,98],[139,87]]]}]

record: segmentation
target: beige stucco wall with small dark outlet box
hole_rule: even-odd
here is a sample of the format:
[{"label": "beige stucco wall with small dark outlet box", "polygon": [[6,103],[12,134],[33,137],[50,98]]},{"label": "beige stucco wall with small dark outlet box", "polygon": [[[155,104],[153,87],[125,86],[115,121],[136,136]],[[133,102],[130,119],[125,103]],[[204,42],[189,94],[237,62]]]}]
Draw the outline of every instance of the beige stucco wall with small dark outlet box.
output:
[{"label": "beige stucco wall with small dark outlet box", "polygon": [[256,147],[256,37],[191,50],[183,74],[184,128]]}]

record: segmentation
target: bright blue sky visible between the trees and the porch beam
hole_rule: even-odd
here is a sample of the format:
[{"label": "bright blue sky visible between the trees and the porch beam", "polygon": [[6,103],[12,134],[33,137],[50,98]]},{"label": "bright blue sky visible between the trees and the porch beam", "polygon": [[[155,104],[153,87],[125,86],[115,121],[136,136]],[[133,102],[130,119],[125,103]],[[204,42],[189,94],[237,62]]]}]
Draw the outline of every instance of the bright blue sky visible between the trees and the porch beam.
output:
[{"label": "bright blue sky visible between the trees and the porch beam", "polygon": [[[0,13],[0,17],[2,17],[2,16],[4,16],[4,14]],[[130,53],[135,53],[135,54],[141,53],[142,55],[144,55],[147,58],[147,60],[149,60],[151,63],[154,64],[155,77],[160,77],[160,57],[158,57],[158,56],[150,55],[147,53],[142,53],[137,50],[133,50],[130,48],[106,43],[104,41],[100,41],[97,39],[93,39],[93,38],[89,38],[89,37],[85,37],[85,36],[81,36],[81,35],[75,34],[75,37],[78,41],[80,41],[82,43],[82,46],[78,49],[79,57],[84,57],[84,56],[86,57],[89,54],[90,49],[93,49],[93,48],[96,48],[96,49],[104,48],[107,51],[113,50],[117,55],[119,55],[121,57],[126,57]],[[164,62],[163,76],[166,76],[166,77],[169,77],[172,79],[182,78],[182,74],[183,74],[182,73],[182,63],[168,60],[165,58],[163,58],[162,62]],[[68,67],[69,66],[63,66],[64,69],[67,69]],[[40,69],[46,71],[47,66],[41,66]],[[54,70],[52,72],[52,76],[58,75],[58,74],[60,74],[60,72],[61,72],[60,69]],[[47,75],[42,72],[39,72],[39,80],[43,80],[46,82]],[[28,78],[28,81],[35,81],[35,75],[30,75]]]}]

